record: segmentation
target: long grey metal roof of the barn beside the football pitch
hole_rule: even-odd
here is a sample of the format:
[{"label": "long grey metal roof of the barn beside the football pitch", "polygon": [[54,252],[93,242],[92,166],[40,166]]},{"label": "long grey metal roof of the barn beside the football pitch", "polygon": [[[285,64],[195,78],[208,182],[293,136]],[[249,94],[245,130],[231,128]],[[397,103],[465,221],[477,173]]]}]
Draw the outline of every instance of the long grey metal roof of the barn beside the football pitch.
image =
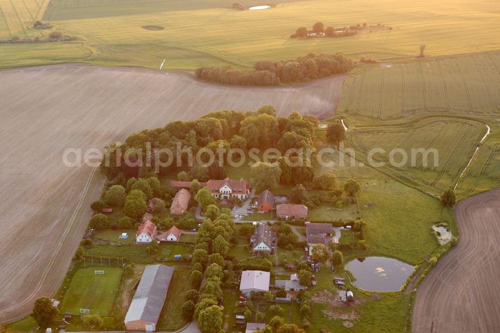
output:
[{"label": "long grey metal roof of the barn beside the football pitch", "polygon": [[156,323],[172,274],[173,267],[170,266],[162,264],[146,266],[125,315],[125,323],[134,320]]}]

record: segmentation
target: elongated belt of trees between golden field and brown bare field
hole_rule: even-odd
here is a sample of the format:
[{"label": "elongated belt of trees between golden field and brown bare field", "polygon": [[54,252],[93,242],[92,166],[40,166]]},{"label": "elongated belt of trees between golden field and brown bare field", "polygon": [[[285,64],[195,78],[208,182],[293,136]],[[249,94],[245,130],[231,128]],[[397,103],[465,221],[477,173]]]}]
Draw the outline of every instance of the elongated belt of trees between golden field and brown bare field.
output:
[{"label": "elongated belt of trees between golden field and brown bare field", "polygon": [[229,85],[279,85],[281,82],[306,82],[344,73],[353,67],[352,60],[341,53],[308,53],[295,59],[257,61],[252,71],[231,66],[203,66],[194,74],[205,81]]}]

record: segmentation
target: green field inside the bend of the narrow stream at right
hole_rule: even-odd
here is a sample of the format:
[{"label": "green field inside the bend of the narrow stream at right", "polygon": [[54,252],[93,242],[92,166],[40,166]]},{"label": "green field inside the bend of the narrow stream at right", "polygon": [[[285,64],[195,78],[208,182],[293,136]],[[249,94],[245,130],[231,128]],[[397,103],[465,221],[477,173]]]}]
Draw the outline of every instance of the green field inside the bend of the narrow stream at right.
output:
[{"label": "green field inside the bend of the narrow stream at right", "polygon": [[[356,158],[368,163],[367,156],[372,149],[384,152],[373,154],[374,162],[381,162],[381,170],[399,177],[404,177],[439,193],[449,186],[453,187],[462,170],[486,132],[484,124],[464,119],[428,118],[412,124],[394,126],[361,127],[347,131],[347,145],[356,150]],[[407,160],[402,161],[400,153],[393,149],[402,149]],[[421,153],[412,149],[435,149],[423,158]],[[392,154],[391,154],[392,152]],[[434,163],[434,158],[436,162]],[[393,159],[396,164],[390,163]],[[426,164],[426,165],[425,165]]]}]

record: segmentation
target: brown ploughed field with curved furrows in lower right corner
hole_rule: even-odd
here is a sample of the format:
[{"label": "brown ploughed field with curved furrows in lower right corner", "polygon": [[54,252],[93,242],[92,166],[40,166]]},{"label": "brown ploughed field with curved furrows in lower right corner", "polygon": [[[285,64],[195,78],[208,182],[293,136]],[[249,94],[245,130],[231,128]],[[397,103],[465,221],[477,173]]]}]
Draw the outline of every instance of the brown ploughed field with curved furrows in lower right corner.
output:
[{"label": "brown ploughed field with curved furrows in lower right corner", "polygon": [[416,291],[412,331],[500,331],[500,188],[455,207],[460,241]]}]

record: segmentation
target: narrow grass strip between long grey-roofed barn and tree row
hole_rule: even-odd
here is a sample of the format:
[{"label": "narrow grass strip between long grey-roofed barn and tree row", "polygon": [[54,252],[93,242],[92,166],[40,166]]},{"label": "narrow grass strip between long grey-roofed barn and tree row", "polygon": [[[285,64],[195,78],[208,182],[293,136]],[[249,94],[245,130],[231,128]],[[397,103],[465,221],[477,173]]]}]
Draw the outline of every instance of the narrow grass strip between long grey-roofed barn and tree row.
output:
[{"label": "narrow grass strip between long grey-roofed barn and tree row", "polygon": [[173,271],[173,276],[168,286],[165,303],[159,315],[158,329],[175,330],[185,324],[180,315],[180,308],[184,303],[182,294],[191,288],[189,285],[190,267],[187,265],[177,265]]}]

